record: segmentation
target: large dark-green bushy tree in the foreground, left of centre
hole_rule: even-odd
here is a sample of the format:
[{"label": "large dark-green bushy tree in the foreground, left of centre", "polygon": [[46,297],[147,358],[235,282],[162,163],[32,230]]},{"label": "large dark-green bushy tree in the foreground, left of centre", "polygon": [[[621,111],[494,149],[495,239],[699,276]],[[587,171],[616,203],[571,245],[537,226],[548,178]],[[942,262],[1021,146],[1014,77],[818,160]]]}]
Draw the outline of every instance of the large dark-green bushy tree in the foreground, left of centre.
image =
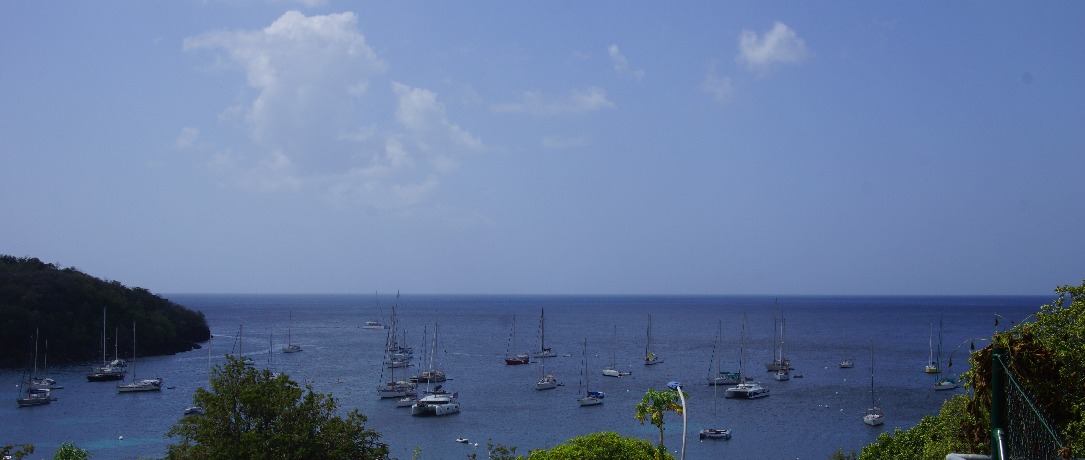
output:
[{"label": "large dark-green bushy tree in the foreground, left of centre", "polygon": [[285,374],[257,371],[228,356],[212,370],[210,391],[193,400],[203,414],[184,417],[167,433],[170,459],[384,459],[387,445],[352,410],[336,417],[337,401],[303,391]]}]

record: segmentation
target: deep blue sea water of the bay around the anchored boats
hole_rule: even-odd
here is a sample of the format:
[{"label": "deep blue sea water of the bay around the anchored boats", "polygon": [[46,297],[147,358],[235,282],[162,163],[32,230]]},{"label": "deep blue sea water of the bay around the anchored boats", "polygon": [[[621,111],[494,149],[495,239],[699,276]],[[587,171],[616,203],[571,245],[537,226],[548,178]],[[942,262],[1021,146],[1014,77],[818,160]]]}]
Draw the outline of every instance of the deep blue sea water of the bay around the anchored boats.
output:
[{"label": "deep blue sea water of the bay around the anchored boats", "polygon": [[[382,295],[168,295],[202,310],[210,325],[212,362],[237,353],[235,336],[244,325],[244,354],[257,366],[286,372],[295,381],[332,393],[344,410],[358,409],[367,425],[399,459],[420,449],[421,459],[464,458],[485,452],[487,439],[516,446],[518,452],[546,448],[574,436],[600,431],[658,439],[651,424],[634,418],[634,407],[648,388],[680,381],[689,394],[688,459],[763,458],[825,459],[839,448],[857,450],[878,434],[909,427],[934,413],[952,394],[931,389],[933,376],[923,373],[929,355],[931,323],[935,333],[944,318],[943,363],[952,358],[954,373],[967,369],[972,338],[990,337],[995,315],[1000,328],[1021,321],[1052,297],[1046,296],[817,296],[779,297],[787,319],[787,354],[803,379],[776,382],[765,372],[773,356],[774,297],[768,296],[472,296],[405,295],[398,301],[399,324],[407,341],[421,348],[423,328],[439,321],[439,368],[460,394],[462,412],[445,418],[413,418],[409,409],[380,400],[382,331],[362,330],[366,320],[388,322],[394,296]],[[547,345],[559,354],[544,358],[546,370],[564,386],[537,392],[537,363],[506,366],[513,315],[516,342],[523,352],[538,345],[540,308],[546,308]],[[664,362],[640,363],[648,316],[653,341]],[[738,367],[743,314],[749,322],[748,372],[771,388],[758,400],[723,398],[706,385],[717,320],[724,321],[725,367]],[[293,341],[305,352],[278,353],[293,315]],[[616,341],[614,328],[617,328]],[[846,332],[845,332],[846,331]],[[277,353],[269,355],[273,340]],[[593,389],[607,393],[605,403],[582,408],[576,404],[582,348],[587,340]],[[936,340],[936,338],[935,338]],[[870,348],[876,359],[876,394],[888,418],[870,427],[861,414],[870,404]],[[985,342],[976,341],[976,348]],[[88,344],[94,347],[95,344]],[[600,374],[612,355],[633,374],[622,379]],[[844,355],[854,369],[839,369]],[[162,457],[170,439],[166,431],[191,404],[194,388],[207,380],[208,352],[140,359],[136,372],[157,375],[167,386],[161,394],[119,395],[113,383],[89,383],[90,363],[50,369],[65,385],[58,400],[36,408],[16,408],[15,385],[22,371],[0,370],[10,388],[0,405],[0,443],[30,443],[34,458],[51,458],[62,442],[75,442],[97,459]],[[417,373],[418,368],[411,368]],[[385,375],[386,378],[386,375]],[[665,443],[681,445],[681,418],[668,414]],[[702,427],[730,427],[731,440],[699,442]],[[120,439],[120,436],[124,436]],[[458,444],[457,437],[471,444]],[[478,443],[475,447],[474,443]]]}]

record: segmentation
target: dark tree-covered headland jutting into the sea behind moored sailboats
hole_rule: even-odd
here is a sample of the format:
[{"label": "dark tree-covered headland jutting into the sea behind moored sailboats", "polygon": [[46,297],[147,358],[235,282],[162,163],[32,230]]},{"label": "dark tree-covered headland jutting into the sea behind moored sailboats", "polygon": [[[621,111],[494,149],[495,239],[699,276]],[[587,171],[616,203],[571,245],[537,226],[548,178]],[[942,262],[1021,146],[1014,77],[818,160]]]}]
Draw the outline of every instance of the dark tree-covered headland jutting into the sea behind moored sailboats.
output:
[{"label": "dark tree-covered headland jutting into the sea behind moored sailboats", "polygon": [[40,347],[49,342],[50,362],[100,360],[102,310],[106,314],[110,357],[131,355],[132,322],[140,355],[187,352],[210,338],[202,312],[192,311],[142,288],[126,288],[36,258],[0,255],[0,366],[26,366],[35,330]]}]

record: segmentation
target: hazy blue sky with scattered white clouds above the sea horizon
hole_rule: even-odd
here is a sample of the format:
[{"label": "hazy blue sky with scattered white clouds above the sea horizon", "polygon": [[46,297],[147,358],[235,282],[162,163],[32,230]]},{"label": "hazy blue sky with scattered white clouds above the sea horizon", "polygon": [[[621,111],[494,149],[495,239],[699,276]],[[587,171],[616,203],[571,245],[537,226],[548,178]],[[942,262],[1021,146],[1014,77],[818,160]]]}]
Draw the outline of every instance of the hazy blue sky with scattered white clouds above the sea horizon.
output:
[{"label": "hazy blue sky with scattered white clouds above the sea horizon", "polygon": [[1049,294],[1085,279],[1082,24],[2,2],[0,254],[159,293]]}]

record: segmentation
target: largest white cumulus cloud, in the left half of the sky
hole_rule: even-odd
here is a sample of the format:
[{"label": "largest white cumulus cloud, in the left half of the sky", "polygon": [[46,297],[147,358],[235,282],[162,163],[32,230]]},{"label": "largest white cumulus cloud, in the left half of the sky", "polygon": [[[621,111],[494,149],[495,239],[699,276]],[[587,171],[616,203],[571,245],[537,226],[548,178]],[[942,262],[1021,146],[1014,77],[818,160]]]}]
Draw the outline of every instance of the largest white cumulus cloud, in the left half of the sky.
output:
[{"label": "largest white cumulus cloud, in the left half of the sky", "polygon": [[[354,13],[289,11],[263,29],[209,31],[183,48],[221,53],[217,63],[244,72],[253,90],[219,115],[246,139],[224,136],[212,162],[242,187],[317,188],[396,209],[424,204],[441,175],[456,169],[456,155],[484,150],[436,93],[384,76],[388,65]],[[182,131],[177,144],[191,136]]]}]

